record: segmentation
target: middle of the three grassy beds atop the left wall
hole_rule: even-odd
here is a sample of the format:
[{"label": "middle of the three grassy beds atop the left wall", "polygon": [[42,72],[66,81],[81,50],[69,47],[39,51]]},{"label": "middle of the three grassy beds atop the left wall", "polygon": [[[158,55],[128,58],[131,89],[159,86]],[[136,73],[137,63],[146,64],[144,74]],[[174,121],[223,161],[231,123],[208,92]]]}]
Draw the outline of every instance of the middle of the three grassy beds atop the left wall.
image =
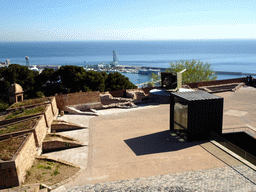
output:
[{"label": "middle of the three grassy beds atop the left wall", "polygon": [[17,132],[17,131],[22,131],[22,130],[27,130],[27,129],[32,129],[34,127],[34,125],[36,124],[37,120],[38,120],[38,118],[34,118],[34,119],[30,119],[30,120],[23,121],[20,123],[16,123],[13,125],[2,127],[2,128],[0,128],[0,135]]}]

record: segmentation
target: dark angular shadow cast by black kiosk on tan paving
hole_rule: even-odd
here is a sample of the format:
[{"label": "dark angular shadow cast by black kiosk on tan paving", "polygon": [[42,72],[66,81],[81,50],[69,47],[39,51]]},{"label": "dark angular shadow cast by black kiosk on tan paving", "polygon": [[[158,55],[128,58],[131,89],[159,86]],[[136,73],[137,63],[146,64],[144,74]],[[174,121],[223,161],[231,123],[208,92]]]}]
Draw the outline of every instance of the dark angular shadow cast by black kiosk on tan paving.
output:
[{"label": "dark angular shadow cast by black kiosk on tan paving", "polygon": [[187,142],[182,140],[183,139],[178,136],[172,136],[170,134],[170,131],[168,130],[132,139],[127,139],[124,140],[124,142],[137,156],[177,151],[207,142]]}]

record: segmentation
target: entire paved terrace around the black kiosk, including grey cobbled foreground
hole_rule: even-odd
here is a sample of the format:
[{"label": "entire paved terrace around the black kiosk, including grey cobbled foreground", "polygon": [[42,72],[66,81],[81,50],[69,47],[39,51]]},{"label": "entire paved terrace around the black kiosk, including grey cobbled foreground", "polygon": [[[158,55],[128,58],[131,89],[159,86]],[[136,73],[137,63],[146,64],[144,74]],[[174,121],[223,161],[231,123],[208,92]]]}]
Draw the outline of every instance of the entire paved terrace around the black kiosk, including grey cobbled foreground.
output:
[{"label": "entire paved terrace around the black kiosk, including grey cobbled foreground", "polygon": [[[245,87],[217,94],[224,97],[224,128],[256,127],[255,93],[255,88]],[[89,146],[85,171],[56,191],[256,190],[255,171],[212,143],[170,135],[168,104],[101,113],[60,118],[88,127]],[[66,154],[70,161],[78,156]]]}]

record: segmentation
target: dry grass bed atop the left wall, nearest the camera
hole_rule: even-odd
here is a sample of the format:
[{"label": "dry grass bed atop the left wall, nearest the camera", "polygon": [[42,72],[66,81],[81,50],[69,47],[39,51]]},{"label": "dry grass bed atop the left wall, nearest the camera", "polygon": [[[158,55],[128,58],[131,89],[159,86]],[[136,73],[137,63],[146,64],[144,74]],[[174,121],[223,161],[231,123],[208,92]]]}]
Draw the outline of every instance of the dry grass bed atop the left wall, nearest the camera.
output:
[{"label": "dry grass bed atop the left wall, nearest the camera", "polygon": [[25,137],[19,136],[0,141],[0,159],[4,161],[11,160],[24,140]]}]

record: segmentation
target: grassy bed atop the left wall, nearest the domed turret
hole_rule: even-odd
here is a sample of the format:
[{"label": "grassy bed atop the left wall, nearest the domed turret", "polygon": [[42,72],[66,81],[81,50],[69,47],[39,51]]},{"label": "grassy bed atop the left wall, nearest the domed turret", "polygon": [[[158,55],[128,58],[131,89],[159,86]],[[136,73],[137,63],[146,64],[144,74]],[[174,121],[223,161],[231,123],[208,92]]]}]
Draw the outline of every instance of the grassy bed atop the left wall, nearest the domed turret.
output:
[{"label": "grassy bed atop the left wall, nearest the domed turret", "polygon": [[42,113],[44,111],[46,106],[38,106],[38,107],[34,107],[34,108],[30,108],[30,109],[20,109],[17,110],[15,112],[11,112],[8,115],[5,116],[5,120],[7,119],[14,119],[14,118],[18,118],[18,117],[23,117],[26,115],[32,115],[32,114],[36,114],[36,113]]}]

